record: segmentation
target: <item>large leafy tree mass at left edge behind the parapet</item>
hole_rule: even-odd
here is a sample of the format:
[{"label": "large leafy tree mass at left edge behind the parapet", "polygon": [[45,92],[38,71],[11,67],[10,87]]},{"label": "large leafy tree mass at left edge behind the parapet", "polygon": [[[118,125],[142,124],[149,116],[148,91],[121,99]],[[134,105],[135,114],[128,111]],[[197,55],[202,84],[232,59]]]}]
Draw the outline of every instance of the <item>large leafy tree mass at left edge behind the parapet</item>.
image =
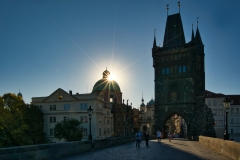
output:
[{"label": "large leafy tree mass at left edge behind the parapet", "polygon": [[0,96],[0,147],[44,142],[42,111],[15,94]]}]

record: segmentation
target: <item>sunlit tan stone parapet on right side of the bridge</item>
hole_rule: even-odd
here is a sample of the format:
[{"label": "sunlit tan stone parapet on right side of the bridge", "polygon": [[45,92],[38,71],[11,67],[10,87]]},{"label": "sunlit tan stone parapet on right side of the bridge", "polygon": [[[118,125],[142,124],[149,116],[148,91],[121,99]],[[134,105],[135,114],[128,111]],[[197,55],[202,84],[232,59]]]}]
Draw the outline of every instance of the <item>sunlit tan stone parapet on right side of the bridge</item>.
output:
[{"label": "sunlit tan stone parapet on right side of the bridge", "polygon": [[231,159],[240,160],[240,143],[223,140],[220,138],[211,138],[199,136],[199,143],[211,148],[212,150],[225,155]]}]

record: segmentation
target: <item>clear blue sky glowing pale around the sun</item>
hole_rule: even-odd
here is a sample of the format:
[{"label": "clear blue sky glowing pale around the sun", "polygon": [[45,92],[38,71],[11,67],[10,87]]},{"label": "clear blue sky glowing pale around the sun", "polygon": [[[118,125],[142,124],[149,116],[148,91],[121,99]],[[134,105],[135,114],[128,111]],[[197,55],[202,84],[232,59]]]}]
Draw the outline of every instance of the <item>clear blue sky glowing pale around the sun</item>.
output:
[{"label": "clear blue sky glowing pale around the sun", "polygon": [[[177,0],[1,0],[0,95],[48,96],[58,88],[90,93],[108,68],[125,102],[154,98],[154,29],[162,46]],[[240,94],[240,1],[182,0],[186,42],[199,17],[206,89]]]}]

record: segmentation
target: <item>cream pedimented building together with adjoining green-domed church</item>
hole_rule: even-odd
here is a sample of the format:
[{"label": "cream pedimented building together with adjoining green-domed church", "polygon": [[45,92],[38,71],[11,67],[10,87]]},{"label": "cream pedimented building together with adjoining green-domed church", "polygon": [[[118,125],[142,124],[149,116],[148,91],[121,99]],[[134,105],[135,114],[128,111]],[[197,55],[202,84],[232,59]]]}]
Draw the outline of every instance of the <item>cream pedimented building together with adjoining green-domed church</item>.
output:
[{"label": "cream pedimented building together with adjoining green-domed church", "polygon": [[82,121],[83,139],[88,139],[89,106],[93,109],[93,139],[133,133],[132,107],[122,103],[121,89],[116,81],[108,79],[109,75],[110,72],[106,69],[103,78],[93,86],[92,93],[73,94],[72,91],[66,92],[59,88],[49,96],[32,97],[31,103],[43,111],[44,132],[50,143],[64,141],[54,138],[54,127],[57,122],[70,118]]}]

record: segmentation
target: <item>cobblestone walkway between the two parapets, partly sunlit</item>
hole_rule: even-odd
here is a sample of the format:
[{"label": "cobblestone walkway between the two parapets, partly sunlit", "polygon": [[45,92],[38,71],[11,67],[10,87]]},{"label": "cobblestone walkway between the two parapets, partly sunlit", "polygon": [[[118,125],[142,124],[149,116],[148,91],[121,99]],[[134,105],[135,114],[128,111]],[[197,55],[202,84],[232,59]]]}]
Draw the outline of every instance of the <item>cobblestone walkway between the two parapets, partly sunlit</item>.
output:
[{"label": "cobblestone walkway between the two parapets, partly sunlit", "polygon": [[229,160],[229,158],[210,150],[196,141],[173,139],[169,142],[163,139],[149,141],[149,146],[145,141],[141,142],[140,147],[135,146],[135,142],[105,149],[93,150],[63,157],[61,160]]}]

